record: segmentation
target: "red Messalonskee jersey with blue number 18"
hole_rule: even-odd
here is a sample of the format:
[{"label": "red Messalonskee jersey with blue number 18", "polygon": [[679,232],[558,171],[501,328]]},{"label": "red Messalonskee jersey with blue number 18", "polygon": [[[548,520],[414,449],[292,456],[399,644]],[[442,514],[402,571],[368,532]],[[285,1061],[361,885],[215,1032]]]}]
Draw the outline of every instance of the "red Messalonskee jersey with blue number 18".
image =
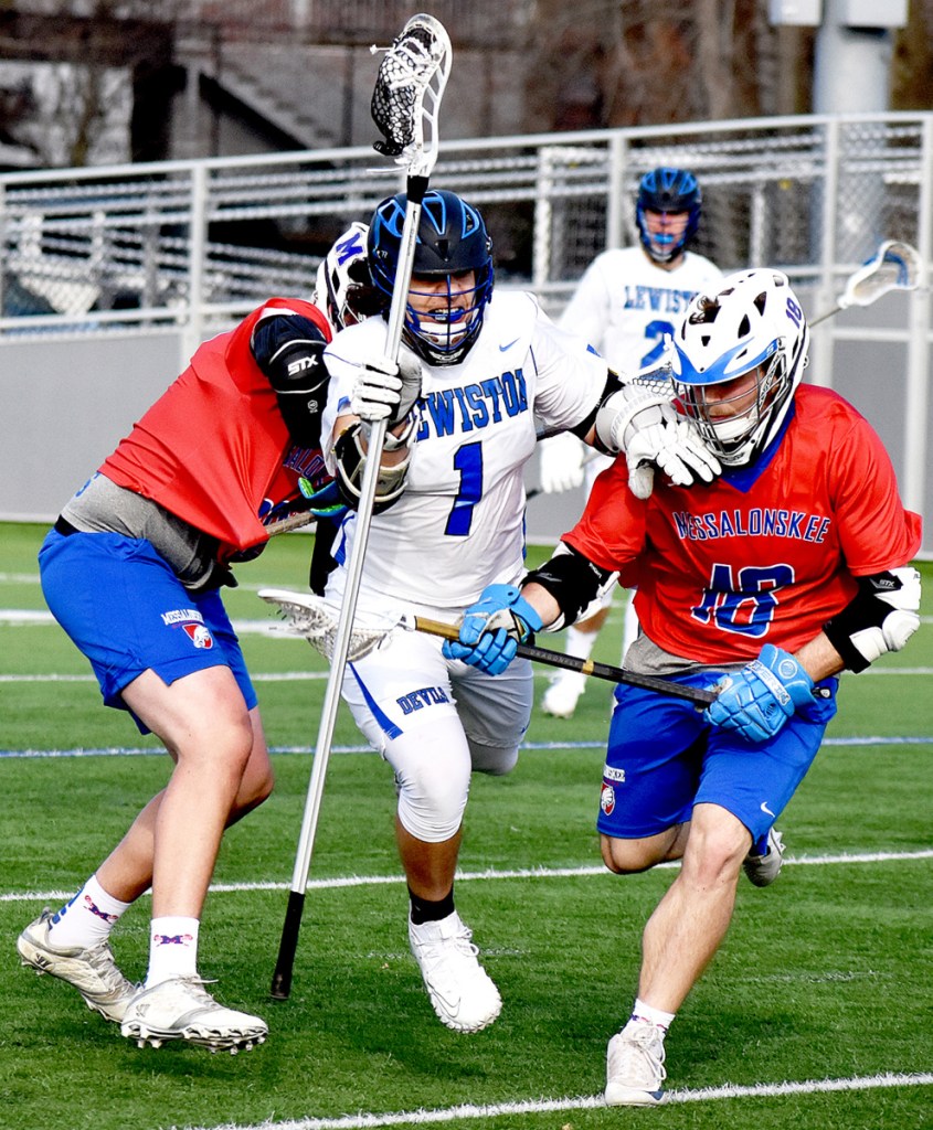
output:
[{"label": "red Messalonskee jersey with blue number 18", "polygon": [[752,468],[689,489],[659,479],[639,501],[617,459],[563,540],[637,585],[642,629],[684,659],[794,652],[852,600],[854,577],[919,550],[919,515],[904,510],[881,440],[829,389],[797,389],[783,437]]}]

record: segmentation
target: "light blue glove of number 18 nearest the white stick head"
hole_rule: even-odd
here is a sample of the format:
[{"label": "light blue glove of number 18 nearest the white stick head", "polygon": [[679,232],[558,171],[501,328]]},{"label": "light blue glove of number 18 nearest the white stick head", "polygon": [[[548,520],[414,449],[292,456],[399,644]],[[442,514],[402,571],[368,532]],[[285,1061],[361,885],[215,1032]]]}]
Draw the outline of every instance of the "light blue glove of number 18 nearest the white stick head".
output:
[{"label": "light blue glove of number 18 nearest the white stick head", "polygon": [[486,675],[501,675],[520,643],[541,631],[541,616],[512,584],[490,584],[460,619],[458,640],[446,640],[446,659],[460,659]]}]

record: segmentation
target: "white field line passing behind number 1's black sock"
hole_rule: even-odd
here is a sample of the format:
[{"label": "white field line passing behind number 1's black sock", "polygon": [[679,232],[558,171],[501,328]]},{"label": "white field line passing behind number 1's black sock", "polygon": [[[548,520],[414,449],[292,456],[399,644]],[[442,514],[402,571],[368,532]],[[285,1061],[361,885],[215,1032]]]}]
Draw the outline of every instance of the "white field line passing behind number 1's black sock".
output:
[{"label": "white field line passing behind number 1's black sock", "polygon": [[[850,852],[836,855],[787,855],[785,867],[832,867],[833,864],[869,864],[869,863],[910,863],[918,860],[933,859],[933,847],[921,847],[917,851],[878,851]],[[659,868],[680,867],[679,862],[658,863]],[[585,879],[605,876],[612,879],[612,872],[602,864],[581,867],[528,867],[528,868],[487,868],[484,871],[458,871],[457,883],[492,883],[509,879]],[[346,875],[334,879],[310,879],[306,890],[337,890],[346,887],[387,887],[405,881],[399,875]],[[213,894],[231,895],[253,890],[288,890],[287,883],[214,883]],[[64,901],[75,894],[74,890],[5,890],[0,892],[0,903],[53,903]]]}]

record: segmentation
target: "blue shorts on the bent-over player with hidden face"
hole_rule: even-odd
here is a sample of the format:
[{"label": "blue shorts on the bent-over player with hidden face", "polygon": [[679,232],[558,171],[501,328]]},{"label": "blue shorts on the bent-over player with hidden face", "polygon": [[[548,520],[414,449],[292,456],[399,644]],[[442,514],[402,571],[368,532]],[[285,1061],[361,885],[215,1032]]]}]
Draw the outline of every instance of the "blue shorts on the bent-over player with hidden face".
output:
[{"label": "blue shorts on the bent-over player with hidden face", "polygon": [[[247,709],[256,706],[219,592],[189,592],[150,542],[52,530],[38,567],[49,608],[90,660],[107,706],[129,710],[123,687],[144,671],[155,671],[169,686],[208,667],[228,667]],[[133,719],[141,733],[149,732]]]}]

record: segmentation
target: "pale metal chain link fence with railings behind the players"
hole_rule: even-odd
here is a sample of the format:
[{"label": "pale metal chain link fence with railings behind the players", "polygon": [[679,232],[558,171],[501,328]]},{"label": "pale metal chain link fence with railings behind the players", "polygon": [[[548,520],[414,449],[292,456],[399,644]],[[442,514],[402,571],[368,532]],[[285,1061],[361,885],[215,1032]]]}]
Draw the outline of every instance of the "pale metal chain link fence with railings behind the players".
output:
[{"label": "pale metal chain link fence with railings behind the players", "polygon": [[[482,208],[498,285],[529,287],[556,314],[598,252],[633,241],[638,182],[663,164],[693,169],[702,185],[697,250],[724,270],[787,271],[811,315],[832,306],[881,241],[917,246],[925,264],[933,254],[931,114],[442,144],[432,182]],[[93,351],[114,336],[170,333],[180,371],[201,340],[270,295],[310,294],[332,240],[403,188],[370,148],[0,176],[0,348],[67,339],[74,355],[79,341]],[[870,417],[899,414],[882,437],[922,507],[933,496],[930,302],[893,296],[876,311],[861,327],[849,313],[814,333],[811,370],[838,383],[847,344],[887,350],[883,385],[866,377],[856,403]]]}]

